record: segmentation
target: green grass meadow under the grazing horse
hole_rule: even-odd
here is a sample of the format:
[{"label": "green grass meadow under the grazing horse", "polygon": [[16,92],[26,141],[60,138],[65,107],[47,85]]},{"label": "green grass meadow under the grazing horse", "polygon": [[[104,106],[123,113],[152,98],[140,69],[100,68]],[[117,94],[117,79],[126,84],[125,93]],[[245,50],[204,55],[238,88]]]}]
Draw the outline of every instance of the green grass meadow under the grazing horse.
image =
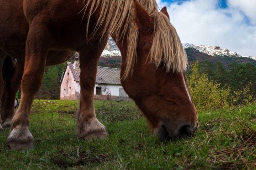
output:
[{"label": "green grass meadow under the grazing horse", "polygon": [[0,169],[255,169],[256,105],[199,112],[191,138],[167,143],[152,134],[134,102],[95,101],[108,138],[76,137],[78,101],[34,100],[30,131],[34,149],[6,147],[0,133]]}]

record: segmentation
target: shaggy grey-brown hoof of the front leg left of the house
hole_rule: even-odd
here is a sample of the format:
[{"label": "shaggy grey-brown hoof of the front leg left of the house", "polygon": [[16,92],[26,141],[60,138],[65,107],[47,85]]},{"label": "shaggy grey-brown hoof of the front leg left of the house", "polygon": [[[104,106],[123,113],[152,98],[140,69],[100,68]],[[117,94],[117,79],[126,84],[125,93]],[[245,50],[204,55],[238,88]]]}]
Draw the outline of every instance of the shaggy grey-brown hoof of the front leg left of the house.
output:
[{"label": "shaggy grey-brown hoof of the front leg left of the house", "polygon": [[29,130],[12,129],[7,138],[7,147],[13,150],[22,151],[34,147],[34,138]]}]

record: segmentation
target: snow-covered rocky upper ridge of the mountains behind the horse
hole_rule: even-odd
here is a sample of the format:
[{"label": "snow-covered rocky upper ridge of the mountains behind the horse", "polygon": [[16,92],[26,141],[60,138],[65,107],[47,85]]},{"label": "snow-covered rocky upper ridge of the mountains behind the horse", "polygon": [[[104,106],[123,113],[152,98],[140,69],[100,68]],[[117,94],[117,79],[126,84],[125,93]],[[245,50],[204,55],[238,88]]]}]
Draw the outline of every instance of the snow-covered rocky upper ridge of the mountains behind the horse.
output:
[{"label": "snow-covered rocky upper ridge of the mountains behind the horse", "polygon": [[[226,56],[232,56],[232,57],[249,57],[256,60],[256,57],[242,56],[234,51],[224,49],[219,46],[194,45],[189,43],[183,43],[182,45],[184,49],[192,47],[200,52],[207,53],[208,55],[211,55],[211,56],[214,56],[214,54],[216,54],[220,56],[226,55]],[[101,55],[103,57],[121,56],[121,52],[119,51],[116,45],[116,42],[114,42],[114,40],[111,37],[108,39],[107,45]]]}]

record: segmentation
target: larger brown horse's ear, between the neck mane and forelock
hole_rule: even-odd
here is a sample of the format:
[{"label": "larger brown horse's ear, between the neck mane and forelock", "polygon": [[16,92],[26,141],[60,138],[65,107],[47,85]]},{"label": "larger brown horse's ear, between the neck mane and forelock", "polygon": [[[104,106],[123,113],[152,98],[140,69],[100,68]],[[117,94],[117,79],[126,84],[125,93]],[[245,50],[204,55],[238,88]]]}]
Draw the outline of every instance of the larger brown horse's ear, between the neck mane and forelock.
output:
[{"label": "larger brown horse's ear, between the neck mane and forelock", "polygon": [[135,22],[138,24],[139,29],[144,33],[153,33],[153,19],[149,16],[148,12],[137,2],[137,0],[133,0],[133,2]]}]

